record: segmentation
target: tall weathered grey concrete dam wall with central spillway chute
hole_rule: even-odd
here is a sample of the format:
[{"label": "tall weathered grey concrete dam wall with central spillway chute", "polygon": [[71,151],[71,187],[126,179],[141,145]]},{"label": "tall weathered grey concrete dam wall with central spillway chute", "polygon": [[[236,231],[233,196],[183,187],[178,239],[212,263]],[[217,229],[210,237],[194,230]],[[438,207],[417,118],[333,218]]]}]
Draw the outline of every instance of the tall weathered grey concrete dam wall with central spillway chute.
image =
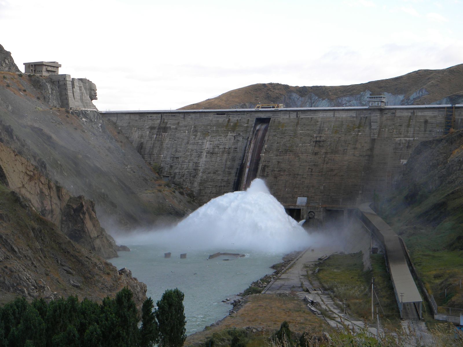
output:
[{"label": "tall weathered grey concrete dam wall with central spillway chute", "polygon": [[463,128],[463,105],[101,114],[200,203],[259,177],[295,219],[342,215],[372,201],[420,141]]}]

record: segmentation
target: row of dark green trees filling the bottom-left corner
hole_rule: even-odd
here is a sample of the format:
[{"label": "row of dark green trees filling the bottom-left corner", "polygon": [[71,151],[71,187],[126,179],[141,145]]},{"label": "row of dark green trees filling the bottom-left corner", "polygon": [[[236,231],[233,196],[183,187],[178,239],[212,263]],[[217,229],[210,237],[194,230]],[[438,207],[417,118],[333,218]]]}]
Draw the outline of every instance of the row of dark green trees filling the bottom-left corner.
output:
[{"label": "row of dark green trees filling the bottom-left corner", "polygon": [[[176,298],[183,300],[181,291],[175,289],[173,292],[180,293]],[[29,304],[24,298],[17,298],[0,308],[0,347],[154,346],[160,341],[160,334],[156,311],[152,311],[153,301],[151,298],[145,300],[142,324],[138,328],[138,310],[132,297],[132,292],[124,288],[114,299],[106,297],[102,304],[88,299],[79,302],[72,296],[48,304],[43,299]],[[183,329],[183,334],[177,338],[182,344],[183,304],[176,302],[175,309],[181,311],[176,316],[183,317],[182,321],[172,322]],[[167,343],[163,346],[171,347]]]}]

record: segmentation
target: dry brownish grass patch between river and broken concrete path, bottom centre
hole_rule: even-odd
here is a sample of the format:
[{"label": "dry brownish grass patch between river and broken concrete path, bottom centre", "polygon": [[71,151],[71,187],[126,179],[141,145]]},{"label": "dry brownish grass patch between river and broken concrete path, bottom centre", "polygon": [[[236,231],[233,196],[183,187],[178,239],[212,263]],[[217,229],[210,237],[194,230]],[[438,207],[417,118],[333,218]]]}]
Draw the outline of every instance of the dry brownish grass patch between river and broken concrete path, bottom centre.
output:
[{"label": "dry brownish grass patch between river and broken concrete path, bottom centre", "polygon": [[307,310],[306,304],[298,297],[254,294],[248,297],[238,312],[226,316],[219,325],[188,336],[185,346],[204,341],[213,333],[229,328],[261,327],[265,331],[273,331],[279,329],[283,321],[287,321],[291,331],[297,333],[310,328],[314,333],[321,334],[322,330],[330,329],[323,318]]}]

